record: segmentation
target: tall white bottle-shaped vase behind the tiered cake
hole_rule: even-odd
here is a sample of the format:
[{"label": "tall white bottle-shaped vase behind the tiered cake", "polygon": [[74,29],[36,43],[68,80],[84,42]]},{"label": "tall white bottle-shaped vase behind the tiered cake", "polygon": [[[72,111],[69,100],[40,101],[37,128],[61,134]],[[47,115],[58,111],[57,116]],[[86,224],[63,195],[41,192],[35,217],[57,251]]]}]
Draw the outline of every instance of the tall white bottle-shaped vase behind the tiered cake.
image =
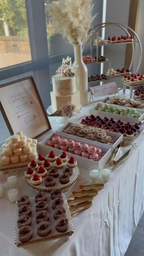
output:
[{"label": "tall white bottle-shaped vase behind the tiered cake", "polygon": [[82,106],[88,103],[88,74],[87,67],[82,61],[82,46],[74,45],[74,75],[76,88],[79,90],[80,103]]}]

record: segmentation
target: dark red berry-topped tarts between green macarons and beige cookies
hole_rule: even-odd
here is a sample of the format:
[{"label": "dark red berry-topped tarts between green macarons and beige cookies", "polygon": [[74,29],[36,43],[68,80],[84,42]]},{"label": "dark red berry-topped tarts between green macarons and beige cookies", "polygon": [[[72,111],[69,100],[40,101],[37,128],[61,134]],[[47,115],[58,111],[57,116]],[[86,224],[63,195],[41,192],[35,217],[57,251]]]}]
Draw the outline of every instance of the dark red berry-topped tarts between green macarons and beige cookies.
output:
[{"label": "dark red berry-topped tarts between green macarons and beige cookies", "polygon": [[[113,118],[104,117],[101,118],[99,115],[90,115],[82,119],[81,123],[85,123],[85,125],[93,125],[93,128],[103,128],[104,130],[113,131],[115,133],[121,133],[126,137],[134,137],[140,131],[140,126],[138,123],[131,125],[129,122],[124,123],[121,120],[114,120]],[[107,138],[106,132],[103,133],[103,141],[110,138]]]}]

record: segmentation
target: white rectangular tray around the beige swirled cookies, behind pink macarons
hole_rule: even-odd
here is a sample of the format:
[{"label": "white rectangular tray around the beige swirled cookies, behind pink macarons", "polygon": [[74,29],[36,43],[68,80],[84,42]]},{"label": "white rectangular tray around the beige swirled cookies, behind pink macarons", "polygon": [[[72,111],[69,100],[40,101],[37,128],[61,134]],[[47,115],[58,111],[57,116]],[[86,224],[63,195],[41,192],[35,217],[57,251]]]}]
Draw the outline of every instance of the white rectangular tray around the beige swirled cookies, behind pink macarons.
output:
[{"label": "white rectangular tray around the beige swirled cookies, behind pink macarons", "polygon": [[[64,133],[63,130],[65,130],[65,128],[67,128],[71,124],[72,123],[67,123],[67,125],[63,125],[56,132],[60,133],[60,134],[67,134],[67,133]],[[112,139],[115,139],[115,142],[113,144],[104,144],[102,142],[92,141],[90,139],[85,139],[85,138],[80,139],[80,137],[78,137],[76,135],[70,135],[70,134],[67,134],[67,135],[75,138],[76,140],[80,139],[82,141],[85,141],[85,143],[87,142],[87,144],[93,143],[95,145],[98,145],[99,147],[104,146],[104,147],[111,148],[111,150],[113,151],[115,149],[115,147],[117,147],[123,141],[123,135],[121,135],[120,133],[113,133],[112,131],[107,131],[107,130],[104,130],[104,131],[106,131],[107,136],[111,136]]]}]

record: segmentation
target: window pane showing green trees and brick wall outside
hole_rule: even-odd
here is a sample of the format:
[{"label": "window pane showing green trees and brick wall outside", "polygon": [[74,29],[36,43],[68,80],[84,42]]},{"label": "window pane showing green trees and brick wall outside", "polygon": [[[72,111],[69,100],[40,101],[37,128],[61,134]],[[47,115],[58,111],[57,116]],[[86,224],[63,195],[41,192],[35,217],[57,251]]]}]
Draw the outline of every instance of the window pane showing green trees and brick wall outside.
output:
[{"label": "window pane showing green trees and brick wall outside", "polygon": [[0,68],[31,60],[25,0],[0,1]]}]

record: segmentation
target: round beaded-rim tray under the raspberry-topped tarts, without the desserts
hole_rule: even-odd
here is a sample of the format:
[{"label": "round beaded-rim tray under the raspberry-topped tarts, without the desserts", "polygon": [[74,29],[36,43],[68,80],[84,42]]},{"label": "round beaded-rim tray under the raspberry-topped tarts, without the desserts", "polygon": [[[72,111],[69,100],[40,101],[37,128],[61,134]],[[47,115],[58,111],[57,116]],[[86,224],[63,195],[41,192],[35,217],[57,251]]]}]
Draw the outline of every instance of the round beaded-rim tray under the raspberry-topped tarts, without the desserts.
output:
[{"label": "round beaded-rim tray under the raspberry-topped tarts, without the desserts", "polygon": [[[62,168],[57,169],[59,171],[59,177],[63,173],[63,170],[65,170],[66,167],[68,167],[68,166],[67,166],[67,164],[64,163],[64,166]],[[48,170],[48,172],[49,172],[49,170]],[[30,186],[30,188],[34,189],[35,191],[50,192],[50,191],[52,191],[52,189],[62,189],[62,191],[63,191],[63,190],[68,189],[70,186],[73,186],[76,183],[76,181],[79,178],[79,168],[77,166],[73,168],[73,174],[70,176],[70,181],[66,184],[60,183],[59,177],[57,177],[57,178],[55,178],[56,185],[46,187],[44,184],[46,177],[48,177],[48,174],[46,174],[45,177],[42,177],[42,183],[40,185],[32,185],[30,178],[26,178],[26,183],[28,186]]]}]

